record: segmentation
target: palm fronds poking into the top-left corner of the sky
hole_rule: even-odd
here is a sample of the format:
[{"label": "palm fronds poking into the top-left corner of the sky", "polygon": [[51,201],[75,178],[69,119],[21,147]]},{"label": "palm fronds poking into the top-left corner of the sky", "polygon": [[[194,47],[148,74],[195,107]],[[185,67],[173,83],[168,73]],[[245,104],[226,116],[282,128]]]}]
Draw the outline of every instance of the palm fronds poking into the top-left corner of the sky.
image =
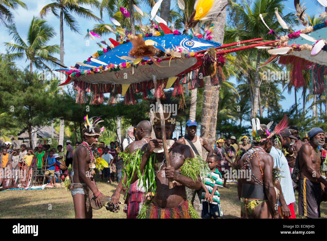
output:
[{"label": "palm fronds poking into the top-left corner of the sky", "polygon": [[24,9],[27,9],[25,3],[19,0],[1,0],[0,1],[0,25],[7,26],[8,24],[13,24],[14,16],[10,9],[17,9],[18,6],[21,6]]}]

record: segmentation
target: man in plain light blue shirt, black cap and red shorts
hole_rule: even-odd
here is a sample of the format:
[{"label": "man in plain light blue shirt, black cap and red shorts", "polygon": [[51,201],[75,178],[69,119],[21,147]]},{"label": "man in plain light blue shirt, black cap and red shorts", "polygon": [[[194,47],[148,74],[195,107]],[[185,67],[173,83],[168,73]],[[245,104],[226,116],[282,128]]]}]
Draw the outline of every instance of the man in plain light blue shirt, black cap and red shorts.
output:
[{"label": "man in plain light blue shirt, black cap and red shorts", "polygon": [[[285,128],[281,131],[280,133],[281,136],[281,144],[283,148],[286,148],[286,150],[289,149],[291,139],[297,139],[296,137],[292,136],[291,132]],[[280,144],[278,143],[277,140],[278,137],[274,136],[273,137],[273,147],[270,150],[270,155],[274,159],[274,167],[277,166],[281,170],[281,177],[279,182],[281,185],[282,193],[284,196],[283,198],[280,198],[278,200],[278,209],[280,210],[282,218],[295,218],[295,213],[294,213],[294,207],[293,207],[293,202],[295,202],[295,195],[294,195],[294,190],[293,190],[293,185],[292,185],[292,179],[291,179],[291,174],[289,172],[289,167],[288,167],[288,162],[281,151]],[[286,217],[283,216],[281,212],[281,206],[286,203],[286,205],[289,207],[291,216]]]}]

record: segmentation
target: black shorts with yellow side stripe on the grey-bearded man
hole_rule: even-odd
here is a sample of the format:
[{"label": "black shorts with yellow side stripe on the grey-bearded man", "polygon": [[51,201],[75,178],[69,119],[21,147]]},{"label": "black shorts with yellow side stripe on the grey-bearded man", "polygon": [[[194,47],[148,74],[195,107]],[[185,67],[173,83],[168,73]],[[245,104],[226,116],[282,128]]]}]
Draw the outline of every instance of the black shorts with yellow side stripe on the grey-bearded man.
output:
[{"label": "black shorts with yellow side stripe on the grey-bearded man", "polygon": [[299,179],[299,215],[320,217],[321,186],[307,178]]}]

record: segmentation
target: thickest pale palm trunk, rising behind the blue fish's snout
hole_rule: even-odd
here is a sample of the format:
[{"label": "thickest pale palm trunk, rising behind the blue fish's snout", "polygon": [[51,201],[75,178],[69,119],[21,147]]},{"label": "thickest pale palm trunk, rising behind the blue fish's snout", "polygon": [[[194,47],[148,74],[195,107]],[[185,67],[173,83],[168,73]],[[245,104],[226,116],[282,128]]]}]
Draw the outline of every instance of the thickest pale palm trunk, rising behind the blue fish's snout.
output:
[{"label": "thickest pale palm trunk, rising behind the blue fish's snout", "polygon": [[[218,13],[213,18],[212,21],[214,23],[213,34],[215,36],[213,38],[213,41],[215,42],[223,43],[224,41],[225,18],[226,18],[226,12]],[[200,136],[203,137],[210,146],[214,146],[215,144],[219,89],[220,89],[220,85],[211,86],[210,77],[205,77]],[[205,160],[207,157],[207,152],[203,151],[203,153],[205,153],[203,155],[203,158]]]}]

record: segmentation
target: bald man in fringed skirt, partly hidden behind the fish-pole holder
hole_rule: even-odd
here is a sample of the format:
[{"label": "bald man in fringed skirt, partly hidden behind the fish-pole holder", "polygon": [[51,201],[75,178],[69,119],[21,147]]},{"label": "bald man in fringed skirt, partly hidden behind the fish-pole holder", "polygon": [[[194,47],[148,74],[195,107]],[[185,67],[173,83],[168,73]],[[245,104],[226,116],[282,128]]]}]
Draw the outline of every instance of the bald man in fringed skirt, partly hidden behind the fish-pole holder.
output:
[{"label": "bald man in fringed skirt, partly hidden behind the fish-pole holder", "polygon": [[[140,149],[144,144],[149,143],[151,140],[151,132],[152,125],[150,121],[140,121],[137,124],[136,128],[134,128],[134,135],[136,141],[131,142],[126,148],[129,150],[129,153],[132,153],[136,149]],[[114,194],[111,197],[111,201],[116,204],[119,201],[120,192],[123,189],[123,182],[126,183],[126,175],[124,179],[121,179]],[[142,187],[142,184],[140,185]],[[138,182],[134,182],[129,186],[128,197],[128,210],[127,210],[127,218],[136,218],[138,212],[140,210],[140,205],[143,204],[145,200],[145,192],[144,188],[138,187]]]}]

